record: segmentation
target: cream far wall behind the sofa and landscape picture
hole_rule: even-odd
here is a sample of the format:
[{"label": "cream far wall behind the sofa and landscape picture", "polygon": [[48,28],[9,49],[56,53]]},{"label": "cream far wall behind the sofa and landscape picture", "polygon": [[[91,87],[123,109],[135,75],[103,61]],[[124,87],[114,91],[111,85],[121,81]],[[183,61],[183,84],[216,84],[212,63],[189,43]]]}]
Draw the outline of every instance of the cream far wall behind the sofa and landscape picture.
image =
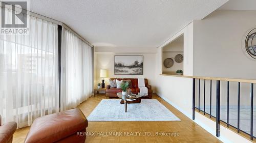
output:
[{"label": "cream far wall behind the sofa and landscape picture", "polygon": [[[100,69],[107,69],[108,78],[147,78],[155,92],[156,48],[127,48],[127,47],[95,47],[96,79],[95,84],[101,83]],[[143,75],[115,75],[114,55],[143,55]],[[109,81],[105,80],[108,84]]]}]

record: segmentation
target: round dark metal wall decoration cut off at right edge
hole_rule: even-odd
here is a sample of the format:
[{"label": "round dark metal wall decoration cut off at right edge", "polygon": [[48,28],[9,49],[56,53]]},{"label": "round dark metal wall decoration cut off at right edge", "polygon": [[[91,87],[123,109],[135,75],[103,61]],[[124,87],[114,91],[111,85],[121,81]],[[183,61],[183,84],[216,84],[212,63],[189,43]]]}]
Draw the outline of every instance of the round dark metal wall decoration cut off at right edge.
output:
[{"label": "round dark metal wall decoration cut off at right edge", "polygon": [[251,58],[256,59],[256,28],[253,28],[245,38],[245,48]]}]

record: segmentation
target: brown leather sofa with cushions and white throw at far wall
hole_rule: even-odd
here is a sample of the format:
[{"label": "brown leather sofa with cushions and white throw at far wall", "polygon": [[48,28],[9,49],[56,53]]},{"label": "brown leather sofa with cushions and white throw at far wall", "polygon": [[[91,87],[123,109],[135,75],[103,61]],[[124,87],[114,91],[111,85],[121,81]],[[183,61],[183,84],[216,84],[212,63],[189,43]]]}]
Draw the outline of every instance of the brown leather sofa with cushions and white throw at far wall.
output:
[{"label": "brown leather sofa with cushions and white throw at far wall", "polygon": [[[132,93],[138,94],[140,92],[139,85],[138,85],[138,78],[110,78],[111,80],[128,80],[132,81]],[[148,89],[148,96],[142,98],[152,98],[153,90],[151,89],[151,85],[148,84],[147,79],[145,78],[145,87]],[[122,89],[117,88],[110,88],[110,85],[106,85],[106,97],[118,97],[117,93],[122,92]]]}]

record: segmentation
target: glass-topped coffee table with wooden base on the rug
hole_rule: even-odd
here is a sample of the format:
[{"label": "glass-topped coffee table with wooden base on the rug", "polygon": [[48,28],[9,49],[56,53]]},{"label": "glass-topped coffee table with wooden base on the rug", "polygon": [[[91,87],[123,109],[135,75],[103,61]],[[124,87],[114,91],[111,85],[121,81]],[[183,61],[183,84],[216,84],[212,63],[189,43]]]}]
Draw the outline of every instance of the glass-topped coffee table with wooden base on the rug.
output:
[{"label": "glass-topped coffee table with wooden base on the rug", "polygon": [[127,104],[140,103],[141,97],[142,97],[142,95],[140,95],[140,93],[138,93],[138,95],[136,95],[136,97],[129,97],[129,96],[122,95],[121,92],[117,93],[117,96],[121,99],[120,104],[124,104],[125,112],[127,112]]}]

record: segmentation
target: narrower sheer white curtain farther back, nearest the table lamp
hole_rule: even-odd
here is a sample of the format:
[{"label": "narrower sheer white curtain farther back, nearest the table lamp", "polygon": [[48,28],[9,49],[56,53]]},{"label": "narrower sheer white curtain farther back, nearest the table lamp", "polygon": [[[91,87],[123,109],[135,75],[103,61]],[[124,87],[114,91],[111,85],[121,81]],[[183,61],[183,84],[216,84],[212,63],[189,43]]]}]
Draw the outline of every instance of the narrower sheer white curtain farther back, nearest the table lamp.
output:
[{"label": "narrower sheer white curtain farther back, nearest the table lamp", "polygon": [[66,28],[61,39],[60,108],[75,108],[92,95],[92,48]]}]

